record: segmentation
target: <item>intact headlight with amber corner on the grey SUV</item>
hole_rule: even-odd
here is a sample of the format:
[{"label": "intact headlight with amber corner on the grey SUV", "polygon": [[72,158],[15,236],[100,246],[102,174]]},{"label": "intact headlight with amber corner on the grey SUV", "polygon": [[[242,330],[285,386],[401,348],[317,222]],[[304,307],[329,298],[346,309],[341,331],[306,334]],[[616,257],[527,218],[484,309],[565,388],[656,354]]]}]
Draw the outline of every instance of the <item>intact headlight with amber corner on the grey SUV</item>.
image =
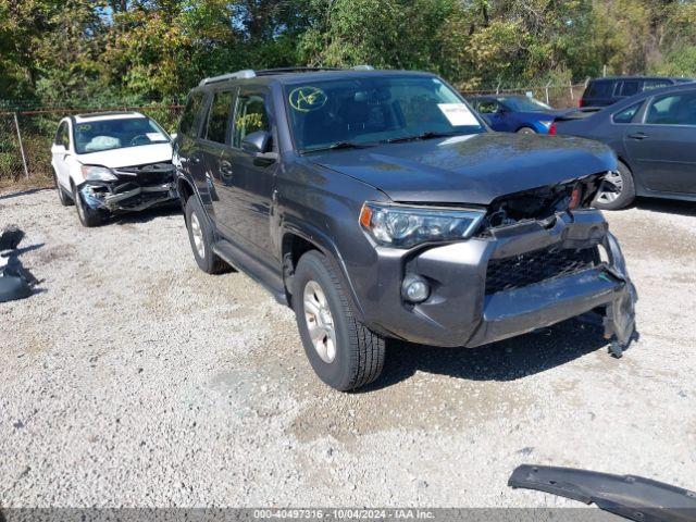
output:
[{"label": "intact headlight with amber corner on the grey SUV", "polygon": [[410,207],[368,201],[360,211],[360,225],[378,245],[411,248],[424,243],[468,239],[476,232],[485,211]]}]

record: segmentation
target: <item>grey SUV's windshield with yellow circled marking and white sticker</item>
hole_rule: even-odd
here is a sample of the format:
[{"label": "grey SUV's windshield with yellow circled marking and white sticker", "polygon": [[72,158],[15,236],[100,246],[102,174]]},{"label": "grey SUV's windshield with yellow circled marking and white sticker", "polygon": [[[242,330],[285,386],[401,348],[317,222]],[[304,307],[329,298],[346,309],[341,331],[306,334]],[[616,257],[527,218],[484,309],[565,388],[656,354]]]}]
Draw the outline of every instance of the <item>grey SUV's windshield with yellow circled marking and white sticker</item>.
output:
[{"label": "grey SUV's windshield with yellow circled marking and white sticker", "polygon": [[461,98],[433,76],[318,80],[287,85],[285,96],[301,152],[485,132]]}]

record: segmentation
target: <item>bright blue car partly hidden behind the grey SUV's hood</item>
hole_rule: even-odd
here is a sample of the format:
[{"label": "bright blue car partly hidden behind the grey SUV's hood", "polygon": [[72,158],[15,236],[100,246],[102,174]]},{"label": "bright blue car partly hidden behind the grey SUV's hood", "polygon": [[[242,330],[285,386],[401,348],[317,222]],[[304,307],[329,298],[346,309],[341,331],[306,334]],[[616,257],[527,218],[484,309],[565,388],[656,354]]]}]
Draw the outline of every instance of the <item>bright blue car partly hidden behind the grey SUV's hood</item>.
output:
[{"label": "bright blue car partly hidden behind the grey SUV's hood", "polygon": [[477,96],[469,102],[494,130],[519,134],[548,134],[554,119],[568,111],[522,95]]}]

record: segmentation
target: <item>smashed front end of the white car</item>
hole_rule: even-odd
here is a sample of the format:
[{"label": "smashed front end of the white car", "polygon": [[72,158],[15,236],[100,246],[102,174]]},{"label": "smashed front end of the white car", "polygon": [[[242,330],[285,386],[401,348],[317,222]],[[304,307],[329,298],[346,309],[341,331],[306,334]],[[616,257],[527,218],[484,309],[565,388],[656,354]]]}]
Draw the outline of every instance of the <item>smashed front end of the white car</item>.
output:
[{"label": "smashed front end of the white car", "polygon": [[109,175],[89,176],[79,194],[92,210],[136,212],[177,200],[175,169],[171,161],[109,170]]}]

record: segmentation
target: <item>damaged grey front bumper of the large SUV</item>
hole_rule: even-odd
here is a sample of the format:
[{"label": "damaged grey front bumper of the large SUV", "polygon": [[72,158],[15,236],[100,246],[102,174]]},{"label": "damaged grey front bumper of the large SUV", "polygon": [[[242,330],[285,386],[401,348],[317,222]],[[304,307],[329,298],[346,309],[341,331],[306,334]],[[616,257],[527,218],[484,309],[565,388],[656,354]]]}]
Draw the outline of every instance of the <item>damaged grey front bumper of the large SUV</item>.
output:
[{"label": "damaged grey front bumper of the large SUV", "polygon": [[[538,283],[486,293],[490,260],[525,252],[604,248],[604,262]],[[598,252],[598,250],[597,250]],[[424,277],[431,295],[409,304],[407,275]],[[359,288],[361,285],[357,285]],[[550,228],[530,222],[493,237],[420,252],[378,249],[377,282],[358,296],[366,324],[385,335],[434,346],[474,347],[524,334],[598,307],[608,336],[627,343],[634,327],[635,289],[618,243],[598,211],[558,214]]]}]

